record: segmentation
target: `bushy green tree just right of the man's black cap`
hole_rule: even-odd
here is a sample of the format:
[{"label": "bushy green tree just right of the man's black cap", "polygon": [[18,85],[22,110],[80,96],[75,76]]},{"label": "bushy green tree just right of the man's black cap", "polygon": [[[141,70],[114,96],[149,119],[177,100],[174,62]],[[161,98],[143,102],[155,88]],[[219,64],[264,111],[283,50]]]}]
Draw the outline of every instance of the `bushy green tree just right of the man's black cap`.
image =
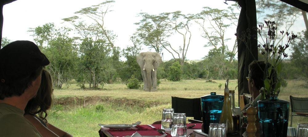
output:
[{"label": "bushy green tree just right of the man's black cap", "polygon": [[53,85],[62,88],[63,83],[73,79],[72,70],[77,59],[75,41],[68,36],[71,29],[56,28],[53,23],[47,23],[29,31],[33,32],[34,42],[50,61],[47,69],[53,76]]}]

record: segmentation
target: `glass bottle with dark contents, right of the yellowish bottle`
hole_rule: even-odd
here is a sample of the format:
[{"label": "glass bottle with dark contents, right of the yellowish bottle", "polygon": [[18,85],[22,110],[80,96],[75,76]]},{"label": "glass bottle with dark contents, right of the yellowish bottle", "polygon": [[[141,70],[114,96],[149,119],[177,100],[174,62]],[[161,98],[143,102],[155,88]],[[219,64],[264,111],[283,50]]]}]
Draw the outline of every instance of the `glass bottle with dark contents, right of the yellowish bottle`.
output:
[{"label": "glass bottle with dark contents, right of the yellowish bottle", "polygon": [[234,90],[229,90],[229,99],[231,104],[231,112],[232,112],[232,119],[233,119],[233,134],[238,134],[240,131],[240,115],[237,115],[235,112],[235,106],[234,106]]}]

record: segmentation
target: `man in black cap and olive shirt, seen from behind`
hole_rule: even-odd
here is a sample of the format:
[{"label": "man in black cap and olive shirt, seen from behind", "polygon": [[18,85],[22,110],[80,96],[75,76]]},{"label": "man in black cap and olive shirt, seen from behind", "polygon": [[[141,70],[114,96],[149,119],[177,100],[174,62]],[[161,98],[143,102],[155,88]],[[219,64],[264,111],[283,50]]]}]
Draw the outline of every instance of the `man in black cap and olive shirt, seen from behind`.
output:
[{"label": "man in black cap and olive shirt, seen from behind", "polygon": [[15,41],[0,50],[0,136],[42,136],[23,115],[48,64],[46,56],[30,41]]}]

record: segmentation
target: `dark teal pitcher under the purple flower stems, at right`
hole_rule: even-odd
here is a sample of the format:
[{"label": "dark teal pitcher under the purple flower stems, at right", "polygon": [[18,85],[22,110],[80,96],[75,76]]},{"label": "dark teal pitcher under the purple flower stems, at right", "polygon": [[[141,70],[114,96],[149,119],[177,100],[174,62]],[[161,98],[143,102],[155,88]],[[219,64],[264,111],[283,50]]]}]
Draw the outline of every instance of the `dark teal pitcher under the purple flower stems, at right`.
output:
[{"label": "dark teal pitcher under the purple flower stems, at right", "polygon": [[290,102],[270,96],[258,101],[261,137],[286,137]]}]

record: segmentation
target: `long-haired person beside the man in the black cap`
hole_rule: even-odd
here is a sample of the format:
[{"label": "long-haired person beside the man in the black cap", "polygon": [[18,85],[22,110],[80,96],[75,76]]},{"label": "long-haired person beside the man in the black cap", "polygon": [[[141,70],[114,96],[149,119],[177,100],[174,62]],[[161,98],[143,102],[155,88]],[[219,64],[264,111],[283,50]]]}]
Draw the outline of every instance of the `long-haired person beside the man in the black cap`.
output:
[{"label": "long-haired person beside the man in the black cap", "polygon": [[52,100],[53,88],[51,75],[47,70],[43,69],[39,91],[28,102],[24,117],[34,125],[43,137],[72,137],[69,133],[47,122],[47,110],[51,108]]}]

